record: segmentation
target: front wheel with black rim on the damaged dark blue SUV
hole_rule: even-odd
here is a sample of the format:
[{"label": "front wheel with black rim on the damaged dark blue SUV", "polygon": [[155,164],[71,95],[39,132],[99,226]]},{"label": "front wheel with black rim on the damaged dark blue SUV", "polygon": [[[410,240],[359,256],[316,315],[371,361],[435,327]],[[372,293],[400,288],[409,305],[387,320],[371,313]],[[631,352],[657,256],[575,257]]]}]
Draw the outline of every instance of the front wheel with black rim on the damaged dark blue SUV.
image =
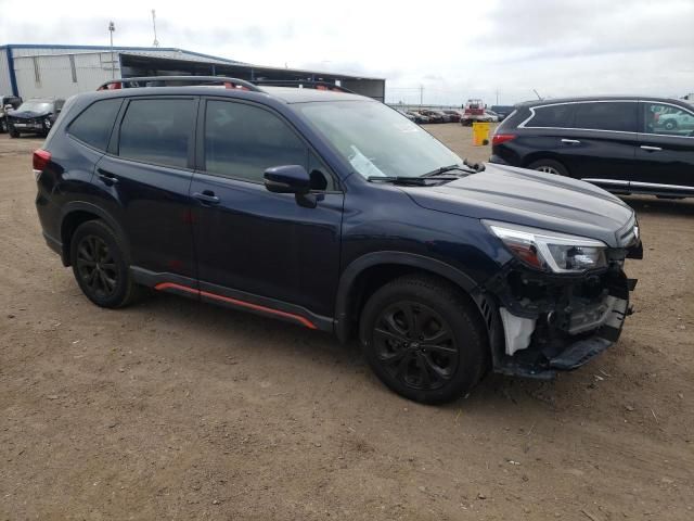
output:
[{"label": "front wheel with black rim on the damaged dark blue SUV", "polygon": [[381,381],[423,404],[462,396],[487,367],[489,347],[478,312],[436,277],[406,276],[378,289],[362,310],[359,332]]}]

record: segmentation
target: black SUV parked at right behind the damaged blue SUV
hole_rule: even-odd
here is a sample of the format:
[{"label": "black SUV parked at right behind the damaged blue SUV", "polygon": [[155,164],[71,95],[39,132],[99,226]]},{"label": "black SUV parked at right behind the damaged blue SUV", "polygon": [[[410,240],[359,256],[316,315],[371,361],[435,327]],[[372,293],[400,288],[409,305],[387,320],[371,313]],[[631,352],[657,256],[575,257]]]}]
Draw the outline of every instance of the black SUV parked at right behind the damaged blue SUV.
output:
[{"label": "black SUV parked at right behind the damaged blue SUV", "polygon": [[493,163],[592,182],[615,193],[694,196],[694,107],[601,97],[517,105],[492,137]]}]

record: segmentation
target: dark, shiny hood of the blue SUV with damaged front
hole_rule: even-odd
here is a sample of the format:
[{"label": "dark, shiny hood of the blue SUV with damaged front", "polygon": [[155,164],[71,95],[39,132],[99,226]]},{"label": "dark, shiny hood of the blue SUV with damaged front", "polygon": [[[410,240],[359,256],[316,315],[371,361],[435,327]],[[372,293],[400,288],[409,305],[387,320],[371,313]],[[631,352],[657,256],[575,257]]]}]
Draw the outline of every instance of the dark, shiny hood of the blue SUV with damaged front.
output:
[{"label": "dark, shiny hood of the blue SUV with damaged front", "polygon": [[571,178],[487,164],[439,187],[399,187],[428,209],[597,239],[616,247],[633,211],[611,193]]}]

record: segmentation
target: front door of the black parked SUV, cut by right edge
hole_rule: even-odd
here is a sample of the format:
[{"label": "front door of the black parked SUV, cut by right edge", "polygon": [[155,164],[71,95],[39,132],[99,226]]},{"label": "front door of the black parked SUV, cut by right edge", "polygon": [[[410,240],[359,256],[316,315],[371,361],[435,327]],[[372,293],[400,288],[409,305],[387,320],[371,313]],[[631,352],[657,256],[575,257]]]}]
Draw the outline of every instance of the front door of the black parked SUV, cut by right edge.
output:
[{"label": "front door of the black parked SUV, cut by right edge", "polygon": [[640,103],[635,190],[694,194],[694,111],[660,101]]}]

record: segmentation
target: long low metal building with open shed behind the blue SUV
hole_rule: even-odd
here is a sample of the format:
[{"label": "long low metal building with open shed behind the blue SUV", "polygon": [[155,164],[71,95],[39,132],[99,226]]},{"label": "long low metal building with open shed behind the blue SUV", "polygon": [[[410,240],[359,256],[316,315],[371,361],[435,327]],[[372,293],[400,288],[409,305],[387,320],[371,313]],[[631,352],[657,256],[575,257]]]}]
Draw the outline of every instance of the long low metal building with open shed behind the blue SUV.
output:
[{"label": "long low metal building with open shed behind the blue SUV", "polygon": [[385,79],[254,65],[176,48],[0,46],[0,94],[67,98],[112,78],[136,76],[231,76],[240,79],[322,80],[385,100]]}]

